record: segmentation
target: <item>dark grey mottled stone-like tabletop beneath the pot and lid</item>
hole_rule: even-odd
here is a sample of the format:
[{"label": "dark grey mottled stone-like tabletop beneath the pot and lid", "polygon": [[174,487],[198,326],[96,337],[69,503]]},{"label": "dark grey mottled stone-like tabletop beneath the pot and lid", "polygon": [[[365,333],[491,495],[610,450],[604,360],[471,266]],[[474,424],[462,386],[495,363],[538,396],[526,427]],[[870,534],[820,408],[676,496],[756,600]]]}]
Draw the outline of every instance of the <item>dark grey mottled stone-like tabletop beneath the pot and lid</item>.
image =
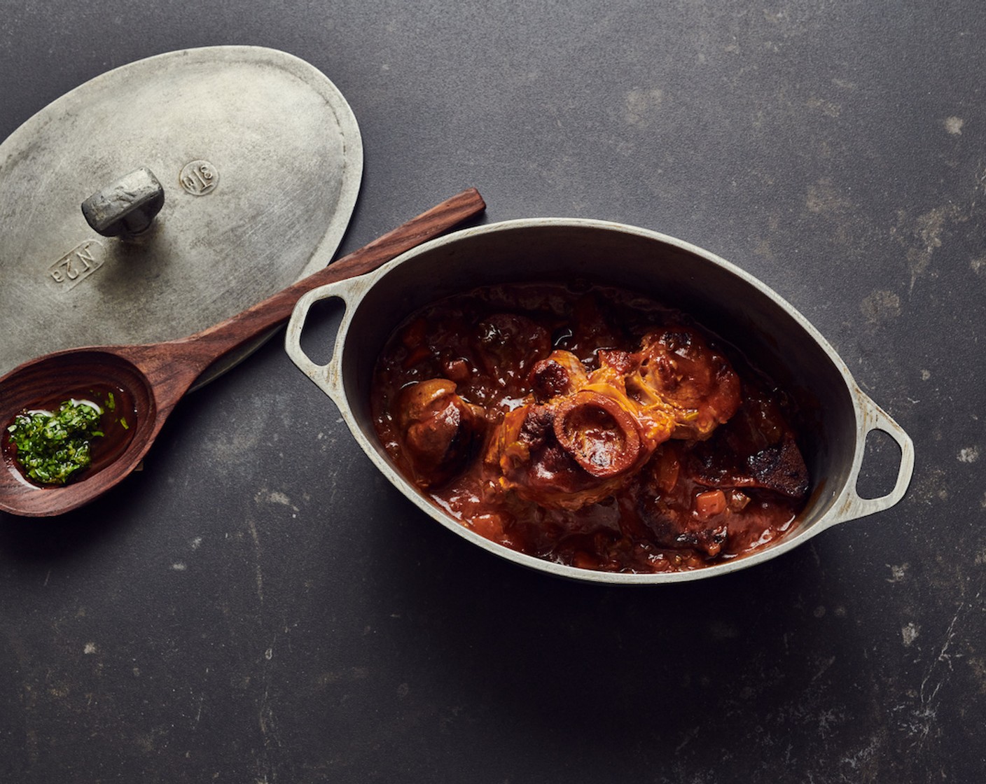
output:
[{"label": "dark grey mottled stone-like tabletop beneath the pot and lid", "polygon": [[484,222],[681,238],[801,311],[917,463],[897,506],[755,568],[569,583],[414,511],[278,336],[103,499],[0,515],[0,773],[986,779],[983,36],[977,0],[5,0],[0,138],[133,60],[282,49],[363,133],[341,250],[467,186]]}]

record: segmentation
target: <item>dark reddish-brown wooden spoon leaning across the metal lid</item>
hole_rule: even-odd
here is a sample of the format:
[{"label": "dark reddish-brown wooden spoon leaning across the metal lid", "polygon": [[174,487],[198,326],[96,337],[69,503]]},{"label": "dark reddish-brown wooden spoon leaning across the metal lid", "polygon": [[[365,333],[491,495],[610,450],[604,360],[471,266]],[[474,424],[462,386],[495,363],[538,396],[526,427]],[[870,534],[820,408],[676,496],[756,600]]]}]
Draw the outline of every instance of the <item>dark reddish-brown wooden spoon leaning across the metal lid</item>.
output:
[{"label": "dark reddish-brown wooden spoon leaning across the metal lid", "polygon": [[[143,459],[178,400],[198,376],[223,355],[287,321],[305,292],[370,272],[485,208],[475,188],[464,190],[383,237],[335,261],[239,316],[201,332],[164,343],[76,348],[47,354],[0,378],[0,428],[25,409],[57,405],[90,389],[115,390],[118,405],[135,421],[108,454],[65,485],[38,486],[4,449],[0,464],[0,510],[26,517],[51,517],[92,501],[127,476]],[[6,433],[0,431],[6,440]]]}]

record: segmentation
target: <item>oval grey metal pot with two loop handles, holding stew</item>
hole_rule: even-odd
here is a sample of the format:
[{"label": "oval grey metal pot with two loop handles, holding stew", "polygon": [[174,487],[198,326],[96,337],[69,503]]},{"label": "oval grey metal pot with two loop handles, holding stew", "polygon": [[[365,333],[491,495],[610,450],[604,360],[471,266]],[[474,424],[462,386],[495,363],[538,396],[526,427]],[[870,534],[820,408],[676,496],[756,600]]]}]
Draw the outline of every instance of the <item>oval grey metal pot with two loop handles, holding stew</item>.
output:
[{"label": "oval grey metal pot with two loop handles, holding stew", "polygon": [[[776,543],[745,557],[702,569],[660,574],[613,574],[541,560],[466,529],[433,504],[390,463],[370,413],[374,363],[392,330],[435,300],[477,286],[524,281],[584,279],[638,291],[695,317],[751,357],[753,364],[793,393],[808,431],[802,447],[812,494],[794,528]],[[301,347],[313,304],[345,304],[327,365]],[[845,363],[798,311],[739,267],[667,235],[583,219],[535,218],[465,229],[398,256],[379,270],[314,289],[295,306],[286,349],[325,392],[353,436],[387,479],[446,528],[490,552],[542,572],[610,584],[697,580],[753,566],[803,544],[838,523],[872,515],[897,503],[914,468],[908,435],[853,381]],[[890,492],[862,498],[856,491],[867,436],[882,431],[900,448]]]}]

